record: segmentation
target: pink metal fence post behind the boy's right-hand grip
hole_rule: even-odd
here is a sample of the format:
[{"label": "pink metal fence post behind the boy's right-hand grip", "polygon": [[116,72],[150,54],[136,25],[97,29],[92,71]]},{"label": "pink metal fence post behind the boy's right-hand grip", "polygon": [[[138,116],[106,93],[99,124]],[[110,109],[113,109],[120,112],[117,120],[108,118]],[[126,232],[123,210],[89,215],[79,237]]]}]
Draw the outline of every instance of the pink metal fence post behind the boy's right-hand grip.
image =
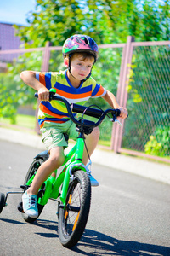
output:
[{"label": "pink metal fence post behind the boy's right-hand grip", "polygon": [[[133,46],[134,38],[129,36],[127,37],[127,44],[122,52],[122,63],[119,76],[119,84],[116,95],[116,100],[119,102],[121,107],[127,105],[127,84],[128,84],[128,73],[129,73],[129,64],[131,64],[133,56]],[[124,119],[121,119],[120,122],[124,124]],[[123,127],[123,126],[122,126]],[[118,153],[122,144],[122,133],[123,128],[120,125],[114,123],[111,135],[111,150],[114,150],[115,153]]]}]

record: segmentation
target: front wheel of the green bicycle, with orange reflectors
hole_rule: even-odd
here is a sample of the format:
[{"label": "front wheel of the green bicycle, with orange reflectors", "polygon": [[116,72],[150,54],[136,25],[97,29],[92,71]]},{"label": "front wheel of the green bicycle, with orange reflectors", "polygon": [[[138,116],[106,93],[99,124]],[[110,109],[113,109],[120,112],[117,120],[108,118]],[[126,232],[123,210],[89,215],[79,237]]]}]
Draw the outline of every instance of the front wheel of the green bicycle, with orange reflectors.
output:
[{"label": "front wheel of the green bicycle, with orange reflectors", "polygon": [[59,207],[59,240],[64,247],[74,247],[88,222],[91,183],[86,172],[78,170],[69,185],[66,207]]}]

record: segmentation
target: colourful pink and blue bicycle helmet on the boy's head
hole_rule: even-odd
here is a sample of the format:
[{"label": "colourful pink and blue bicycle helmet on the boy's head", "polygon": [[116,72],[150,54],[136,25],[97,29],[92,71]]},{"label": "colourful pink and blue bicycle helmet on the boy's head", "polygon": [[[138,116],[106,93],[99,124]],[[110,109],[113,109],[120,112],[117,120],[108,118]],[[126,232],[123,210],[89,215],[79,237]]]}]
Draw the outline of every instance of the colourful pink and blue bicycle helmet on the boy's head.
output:
[{"label": "colourful pink and blue bicycle helmet on the boy's head", "polygon": [[93,38],[86,35],[73,35],[65,40],[63,45],[63,56],[72,55],[75,52],[88,52],[94,55],[94,60],[98,59],[99,49]]}]

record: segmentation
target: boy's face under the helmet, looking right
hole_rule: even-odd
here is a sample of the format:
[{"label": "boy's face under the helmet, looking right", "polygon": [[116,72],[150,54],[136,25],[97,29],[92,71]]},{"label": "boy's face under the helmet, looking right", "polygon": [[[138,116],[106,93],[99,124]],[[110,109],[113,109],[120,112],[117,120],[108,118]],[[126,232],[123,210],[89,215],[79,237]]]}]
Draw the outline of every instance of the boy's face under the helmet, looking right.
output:
[{"label": "boy's face under the helmet, looking right", "polygon": [[75,54],[71,58],[71,74],[77,80],[86,79],[94,65],[94,57],[83,59],[82,55]]}]

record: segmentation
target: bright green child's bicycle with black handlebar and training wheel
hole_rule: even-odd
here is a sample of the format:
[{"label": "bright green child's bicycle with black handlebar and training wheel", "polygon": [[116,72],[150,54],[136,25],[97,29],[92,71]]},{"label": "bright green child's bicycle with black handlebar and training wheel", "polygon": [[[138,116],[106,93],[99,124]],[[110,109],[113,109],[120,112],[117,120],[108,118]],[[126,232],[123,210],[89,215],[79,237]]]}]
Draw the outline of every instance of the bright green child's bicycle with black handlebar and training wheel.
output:
[{"label": "bright green child's bicycle with black handlebar and training wheel", "polygon": [[[48,177],[39,189],[37,194],[38,217],[49,199],[57,201],[59,240],[64,247],[71,248],[74,247],[82,237],[88,221],[91,203],[90,171],[88,169],[88,166],[91,165],[91,160],[87,166],[82,163],[83,150],[84,146],[86,146],[84,134],[90,134],[94,127],[99,126],[106,116],[108,116],[112,122],[116,121],[120,110],[109,108],[103,111],[99,108],[91,108],[92,106],[84,107],[78,104],[69,104],[64,98],[54,96],[54,94],[55,91],[51,90],[50,100],[65,103],[71,120],[77,125],[79,135],[77,137],[77,143],[71,148],[70,152],[65,155],[65,162],[59,176],[57,178],[52,176]],[[35,96],[37,97],[37,93]],[[77,119],[74,117],[73,113],[82,113],[82,118]],[[98,120],[94,122],[84,119],[84,115],[94,117]],[[48,160],[48,157],[48,151],[37,154],[26,174],[24,185],[20,186],[20,188],[23,189],[21,193],[24,193],[31,185],[37,169],[44,161]],[[57,170],[55,172],[57,172]],[[10,193],[20,192],[8,192],[6,197],[3,193],[0,193],[0,212],[2,212],[3,207],[6,206],[7,197]],[[22,218],[28,223],[32,223],[38,218],[31,218],[26,215],[21,202],[18,209],[22,214]]]}]

